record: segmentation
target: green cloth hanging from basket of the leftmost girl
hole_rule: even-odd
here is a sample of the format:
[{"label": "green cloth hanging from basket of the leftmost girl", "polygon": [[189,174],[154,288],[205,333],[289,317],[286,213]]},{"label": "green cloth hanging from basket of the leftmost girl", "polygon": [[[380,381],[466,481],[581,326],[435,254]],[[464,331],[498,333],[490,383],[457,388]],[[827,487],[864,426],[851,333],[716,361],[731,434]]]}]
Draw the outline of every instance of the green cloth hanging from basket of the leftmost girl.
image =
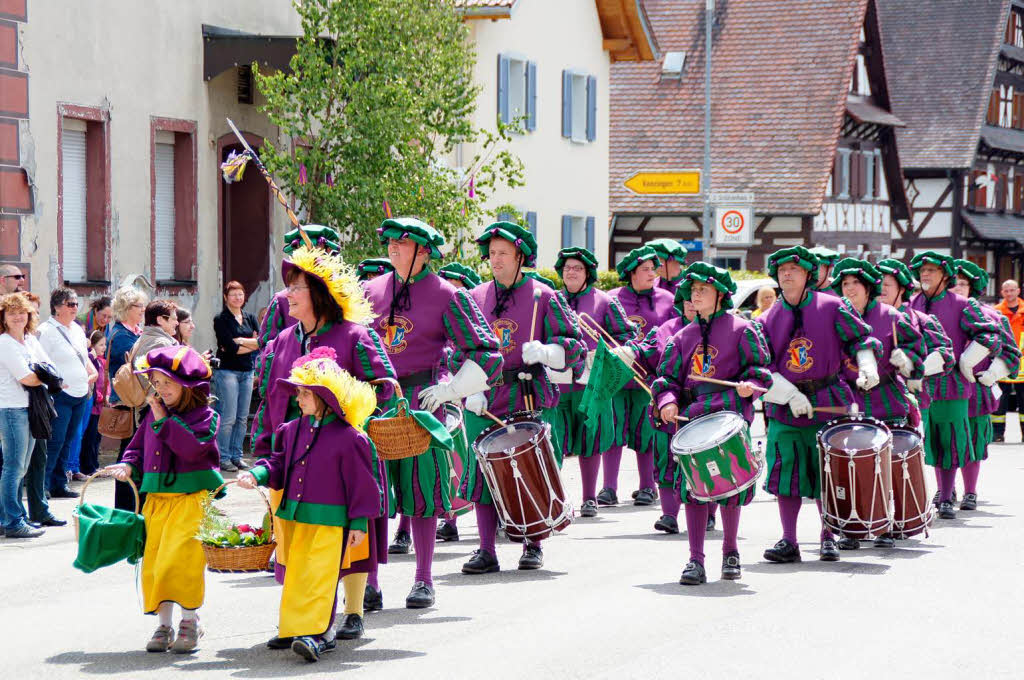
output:
[{"label": "green cloth hanging from basket of the leftmost girl", "polygon": [[78,556],[75,568],[86,573],[127,559],[142,559],[145,549],[145,518],[129,510],[83,503],[75,509],[78,518]]}]

